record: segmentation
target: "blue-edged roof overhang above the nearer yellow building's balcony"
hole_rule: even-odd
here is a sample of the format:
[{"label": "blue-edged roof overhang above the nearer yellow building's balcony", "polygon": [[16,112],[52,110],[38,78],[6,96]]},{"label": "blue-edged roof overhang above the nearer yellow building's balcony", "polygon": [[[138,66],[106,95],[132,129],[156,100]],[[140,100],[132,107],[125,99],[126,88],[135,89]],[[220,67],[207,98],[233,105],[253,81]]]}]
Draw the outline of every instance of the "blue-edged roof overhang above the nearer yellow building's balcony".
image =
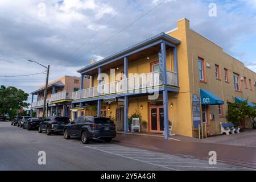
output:
[{"label": "blue-edged roof overhang above the nearer yellow building's balcony", "polygon": [[[115,61],[115,60],[119,60],[122,57],[126,57],[129,55],[132,55],[133,53],[135,53],[135,51],[140,51],[143,50],[143,48],[148,48],[150,46],[154,46],[155,44],[160,44],[161,42],[165,41],[167,43],[168,46],[171,47],[176,47],[178,44],[181,43],[180,40],[173,38],[170,35],[167,35],[165,33],[161,33],[158,35],[153,36],[152,38],[149,38],[147,40],[144,40],[138,44],[135,44],[134,46],[131,46],[127,49],[124,49],[123,51],[117,52],[112,56],[106,57],[105,59],[102,59],[100,61],[97,61],[94,64],[90,64],[84,68],[79,69],[77,72],[78,73],[86,73],[92,69],[97,69],[99,67],[102,67],[103,65],[106,65],[109,63],[109,61]],[[155,43],[155,44],[154,44]],[[148,47],[147,47],[148,46]]]}]

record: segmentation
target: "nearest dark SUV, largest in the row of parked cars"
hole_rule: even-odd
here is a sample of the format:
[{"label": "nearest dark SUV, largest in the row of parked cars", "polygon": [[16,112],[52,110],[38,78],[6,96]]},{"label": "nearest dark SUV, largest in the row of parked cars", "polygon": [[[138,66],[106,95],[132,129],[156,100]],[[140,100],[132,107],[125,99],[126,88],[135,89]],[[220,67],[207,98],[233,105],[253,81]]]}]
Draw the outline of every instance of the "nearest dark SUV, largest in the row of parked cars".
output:
[{"label": "nearest dark SUV, largest in the row of parked cars", "polygon": [[90,139],[104,139],[110,142],[117,132],[115,124],[110,118],[103,117],[79,117],[64,127],[64,138],[81,138],[86,144]]}]

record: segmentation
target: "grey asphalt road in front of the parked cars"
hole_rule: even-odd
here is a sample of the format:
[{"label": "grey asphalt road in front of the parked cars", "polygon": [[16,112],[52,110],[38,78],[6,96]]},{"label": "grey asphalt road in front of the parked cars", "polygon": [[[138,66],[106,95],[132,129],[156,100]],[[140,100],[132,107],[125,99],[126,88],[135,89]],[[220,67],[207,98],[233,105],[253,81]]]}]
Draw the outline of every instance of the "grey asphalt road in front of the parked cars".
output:
[{"label": "grey asphalt road in front of the parked cars", "polygon": [[[38,164],[38,152],[46,152],[46,165]],[[62,135],[47,136],[0,122],[0,170],[250,170],[225,163],[209,165],[184,155],[80,139],[65,140]]]}]

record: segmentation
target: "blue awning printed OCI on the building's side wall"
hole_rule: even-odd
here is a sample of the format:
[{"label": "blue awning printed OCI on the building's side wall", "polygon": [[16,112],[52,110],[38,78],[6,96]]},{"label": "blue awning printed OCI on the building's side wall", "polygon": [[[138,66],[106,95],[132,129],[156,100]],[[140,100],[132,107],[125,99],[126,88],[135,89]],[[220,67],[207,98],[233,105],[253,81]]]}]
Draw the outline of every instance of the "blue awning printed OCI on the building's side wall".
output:
[{"label": "blue awning printed OCI on the building's side wall", "polygon": [[200,89],[201,105],[223,105],[224,101],[209,90]]}]

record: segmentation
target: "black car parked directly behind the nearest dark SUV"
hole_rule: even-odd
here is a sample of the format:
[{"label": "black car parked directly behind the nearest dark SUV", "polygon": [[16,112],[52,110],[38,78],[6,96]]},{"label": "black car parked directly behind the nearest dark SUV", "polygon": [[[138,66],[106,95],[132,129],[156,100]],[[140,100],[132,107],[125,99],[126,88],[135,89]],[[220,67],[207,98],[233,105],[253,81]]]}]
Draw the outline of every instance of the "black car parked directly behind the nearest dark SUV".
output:
[{"label": "black car parked directly behind the nearest dark SUV", "polygon": [[52,133],[63,133],[64,126],[69,123],[69,118],[67,117],[48,117],[46,121],[40,123],[38,127],[38,132],[42,133],[46,131],[47,135]]}]

